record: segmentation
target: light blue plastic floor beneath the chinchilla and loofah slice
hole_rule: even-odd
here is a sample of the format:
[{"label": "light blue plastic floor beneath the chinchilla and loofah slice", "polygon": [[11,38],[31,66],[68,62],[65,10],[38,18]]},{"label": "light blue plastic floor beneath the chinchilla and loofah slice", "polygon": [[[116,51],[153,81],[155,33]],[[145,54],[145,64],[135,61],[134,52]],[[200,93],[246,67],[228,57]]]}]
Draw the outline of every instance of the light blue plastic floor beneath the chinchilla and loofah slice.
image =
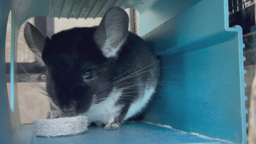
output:
[{"label": "light blue plastic floor beneath the chinchilla and loofah slice", "polygon": [[143,122],[123,124],[118,130],[89,127],[87,132],[66,137],[36,137],[32,131],[32,124],[22,125],[12,143],[225,143]]}]

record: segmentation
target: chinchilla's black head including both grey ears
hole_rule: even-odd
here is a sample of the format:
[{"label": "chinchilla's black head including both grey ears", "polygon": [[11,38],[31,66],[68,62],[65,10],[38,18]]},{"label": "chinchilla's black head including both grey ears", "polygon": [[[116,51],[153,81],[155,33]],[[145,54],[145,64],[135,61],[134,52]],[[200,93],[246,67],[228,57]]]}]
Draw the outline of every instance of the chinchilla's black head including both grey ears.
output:
[{"label": "chinchilla's black head including both grey ears", "polygon": [[47,92],[63,112],[85,113],[113,89],[106,84],[113,79],[113,66],[126,41],[128,23],[128,15],[118,7],[108,10],[97,27],[73,28],[52,38],[26,23],[26,42],[47,67]]}]

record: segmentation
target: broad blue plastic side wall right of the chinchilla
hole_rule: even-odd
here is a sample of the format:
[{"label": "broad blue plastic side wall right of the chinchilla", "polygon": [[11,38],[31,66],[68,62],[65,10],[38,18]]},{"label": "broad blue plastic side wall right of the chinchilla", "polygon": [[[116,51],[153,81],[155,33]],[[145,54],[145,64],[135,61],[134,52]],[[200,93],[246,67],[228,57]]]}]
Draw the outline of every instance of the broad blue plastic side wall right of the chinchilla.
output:
[{"label": "broad blue plastic side wall right of the chinchilla", "polygon": [[[242,30],[228,3],[204,0],[145,38],[162,60],[162,83],[146,120],[242,143],[246,139]],[[210,7],[210,9],[209,9]]]}]

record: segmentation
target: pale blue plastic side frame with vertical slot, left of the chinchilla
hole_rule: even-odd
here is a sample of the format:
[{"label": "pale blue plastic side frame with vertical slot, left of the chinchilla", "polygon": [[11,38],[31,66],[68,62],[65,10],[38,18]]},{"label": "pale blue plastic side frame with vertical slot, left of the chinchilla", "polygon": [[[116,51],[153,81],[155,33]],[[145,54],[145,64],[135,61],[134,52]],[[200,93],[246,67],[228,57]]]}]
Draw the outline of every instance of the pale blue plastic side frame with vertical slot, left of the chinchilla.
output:
[{"label": "pale blue plastic side frame with vertical slot, left of the chinchilla", "polygon": [[[38,6],[33,7],[33,6]],[[32,8],[31,8],[32,7]],[[6,26],[9,12],[12,11],[12,41],[11,41],[11,100],[9,103],[6,85],[5,41]],[[20,129],[20,114],[18,110],[17,84],[16,84],[16,59],[18,32],[26,19],[38,15],[49,15],[49,1],[9,1],[0,0],[0,140],[9,143]]]}]

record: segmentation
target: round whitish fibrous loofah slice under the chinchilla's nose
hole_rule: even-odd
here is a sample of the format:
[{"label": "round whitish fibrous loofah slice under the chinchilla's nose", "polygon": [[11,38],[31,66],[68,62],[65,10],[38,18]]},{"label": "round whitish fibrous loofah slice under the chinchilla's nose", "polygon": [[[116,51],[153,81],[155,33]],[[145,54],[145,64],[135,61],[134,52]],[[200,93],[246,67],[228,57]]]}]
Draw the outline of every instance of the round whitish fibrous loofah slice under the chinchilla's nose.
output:
[{"label": "round whitish fibrous loofah slice under the chinchilla's nose", "polygon": [[36,136],[56,137],[74,135],[87,130],[87,116],[76,116],[57,119],[35,119],[34,134]]}]

